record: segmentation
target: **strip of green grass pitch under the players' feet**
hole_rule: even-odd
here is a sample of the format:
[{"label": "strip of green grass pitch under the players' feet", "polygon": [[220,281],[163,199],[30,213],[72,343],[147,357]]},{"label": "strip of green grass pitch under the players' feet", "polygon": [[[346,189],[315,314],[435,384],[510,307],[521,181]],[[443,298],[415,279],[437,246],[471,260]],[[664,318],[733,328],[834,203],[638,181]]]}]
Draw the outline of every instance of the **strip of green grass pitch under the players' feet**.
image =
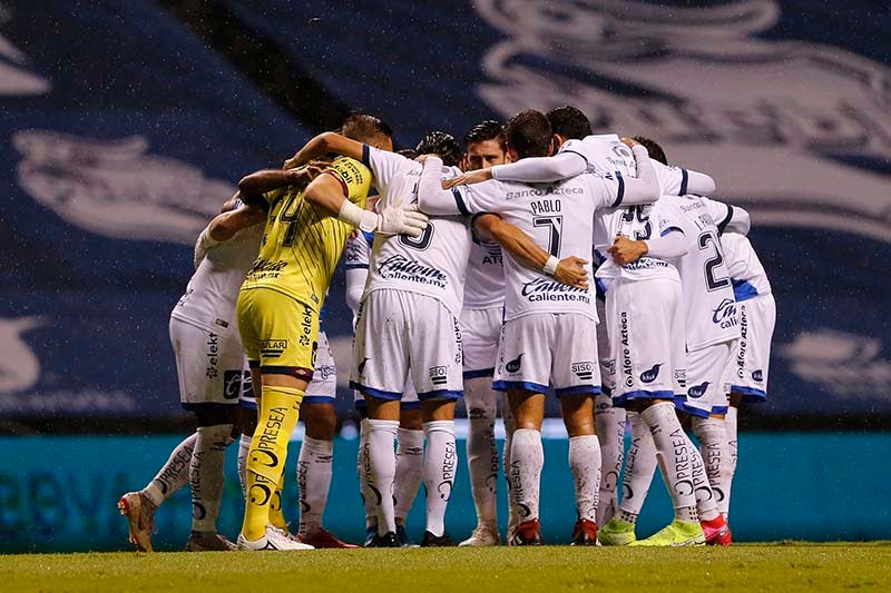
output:
[{"label": "strip of green grass pitch under the players' feet", "polygon": [[891,546],[320,550],[0,556],[3,591],[891,591]]}]

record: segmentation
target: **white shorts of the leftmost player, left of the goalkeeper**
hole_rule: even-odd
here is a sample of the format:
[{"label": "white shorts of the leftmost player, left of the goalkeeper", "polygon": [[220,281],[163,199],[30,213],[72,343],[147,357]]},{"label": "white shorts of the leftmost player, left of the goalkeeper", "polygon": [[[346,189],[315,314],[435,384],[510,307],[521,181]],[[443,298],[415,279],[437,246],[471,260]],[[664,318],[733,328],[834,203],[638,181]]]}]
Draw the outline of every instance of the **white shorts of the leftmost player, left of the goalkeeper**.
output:
[{"label": "white shorts of the leftmost player, left of the goalkeeper", "polygon": [[185,409],[238,403],[244,350],[236,337],[170,317],[170,344],[179,377],[179,402]]}]

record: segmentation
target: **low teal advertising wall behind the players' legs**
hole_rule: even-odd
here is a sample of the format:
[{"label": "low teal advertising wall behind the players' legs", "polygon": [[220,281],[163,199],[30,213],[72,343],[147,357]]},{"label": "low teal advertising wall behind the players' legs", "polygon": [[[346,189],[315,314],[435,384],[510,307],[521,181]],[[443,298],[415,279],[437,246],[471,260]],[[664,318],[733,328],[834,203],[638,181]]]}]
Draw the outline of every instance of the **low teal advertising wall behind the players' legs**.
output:
[{"label": "low teal advertising wall behind the players' legs", "polygon": [[[145,437],[0,437],[0,553],[128,550],[125,521],[115,503],[121,493],[151,478],[179,436]],[[334,483],[325,524],[347,541],[363,538],[364,520],[355,475],[358,439],[335,443]],[[300,443],[291,445],[285,511],[296,518]],[[463,537],[476,515],[467,476],[464,443],[457,486],[449,506],[448,530]],[[242,495],[229,447],[219,530],[234,536],[242,517]],[[549,543],[568,543],[576,520],[572,481],[567,470],[567,441],[545,441],[542,526]],[[887,433],[743,433],[734,482],[732,524],[736,541],[888,540],[891,538],[891,482],[875,471],[877,459],[891,456]],[[27,470],[26,459],[29,462]],[[97,459],[102,459],[101,465]],[[505,492],[500,517],[503,528]],[[660,480],[638,533],[648,534],[670,518]],[[178,550],[188,537],[187,488],[157,515],[156,548]],[[409,517],[409,532],[423,532],[423,488]]]}]

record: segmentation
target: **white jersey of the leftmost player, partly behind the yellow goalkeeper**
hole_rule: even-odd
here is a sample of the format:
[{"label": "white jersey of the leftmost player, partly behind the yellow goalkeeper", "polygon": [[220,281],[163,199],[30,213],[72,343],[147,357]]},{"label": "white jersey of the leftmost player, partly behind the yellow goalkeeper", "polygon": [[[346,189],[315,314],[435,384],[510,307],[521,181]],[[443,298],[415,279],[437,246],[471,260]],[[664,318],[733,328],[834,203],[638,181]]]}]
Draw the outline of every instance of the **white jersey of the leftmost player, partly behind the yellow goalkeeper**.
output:
[{"label": "white jersey of the leftmost player, partly behind the yellow goalkeeper", "polygon": [[244,277],[257,257],[263,230],[262,224],[255,225],[209,249],[170,317],[241,339],[235,303]]}]

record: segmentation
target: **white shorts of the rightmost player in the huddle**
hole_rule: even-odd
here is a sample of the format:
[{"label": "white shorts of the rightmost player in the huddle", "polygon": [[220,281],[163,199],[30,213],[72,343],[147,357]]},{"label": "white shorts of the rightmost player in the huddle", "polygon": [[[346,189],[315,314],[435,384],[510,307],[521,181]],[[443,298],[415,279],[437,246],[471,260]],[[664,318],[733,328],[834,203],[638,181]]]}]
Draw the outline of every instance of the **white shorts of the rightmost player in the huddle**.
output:
[{"label": "white shorts of the rightmost player in the huddle", "polygon": [[741,394],[744,402],[761,403],[767,399],[771,342],[776,325],[773,295],[737,302],[736,320],[741,338],[731,355],[731,393]]}]

